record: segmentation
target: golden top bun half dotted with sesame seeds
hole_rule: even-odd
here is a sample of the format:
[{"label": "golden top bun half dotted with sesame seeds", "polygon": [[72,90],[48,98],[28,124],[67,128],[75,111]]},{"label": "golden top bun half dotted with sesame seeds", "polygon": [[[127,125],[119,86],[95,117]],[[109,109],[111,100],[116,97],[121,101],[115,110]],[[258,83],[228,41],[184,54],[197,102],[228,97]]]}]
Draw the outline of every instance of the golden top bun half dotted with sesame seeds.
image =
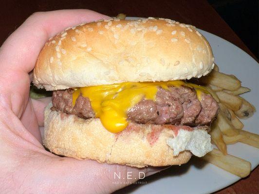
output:
[{"label": "golden top bun half dotted with sesame seeds", "polygon": [[194,26],[153,17],[101,20],[67,29],[40,52],[33,82],[46,90],[126,81],[200,78],[214,64]]}]

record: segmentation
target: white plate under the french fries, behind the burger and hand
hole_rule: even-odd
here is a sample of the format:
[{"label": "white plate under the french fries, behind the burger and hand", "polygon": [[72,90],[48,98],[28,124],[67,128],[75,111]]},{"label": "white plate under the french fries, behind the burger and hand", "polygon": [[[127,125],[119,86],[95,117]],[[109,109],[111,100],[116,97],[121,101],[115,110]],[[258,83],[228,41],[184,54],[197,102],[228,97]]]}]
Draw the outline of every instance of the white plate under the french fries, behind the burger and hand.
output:
[{"label": "white plate under the french fries, behind the burger and hand", "polygon": [[[136,18],[136,17],[135,17]],[[128,17],[128,19],[134,19]],[[199,30],[209,41],[215,63],[220,71],[234,74],[242,81],[242,86],[251,88],[251,92],[242,95],[259,111],[259,65],[246,52],[230,42],[209,32]],[[252,118],[242,120],[244,129],[259,133],[259,114],[256,112]],[[228,153],[252,164],[254,169],[259,164],[259,149],[245,144],[237,143],[227,147]],[[240,178],[232,175],[212,164],[191,159],[185,165],[172,166],[169,169],[143,179],[144,185],[130,185],[116,194],[207,194],[218,191]]]}]

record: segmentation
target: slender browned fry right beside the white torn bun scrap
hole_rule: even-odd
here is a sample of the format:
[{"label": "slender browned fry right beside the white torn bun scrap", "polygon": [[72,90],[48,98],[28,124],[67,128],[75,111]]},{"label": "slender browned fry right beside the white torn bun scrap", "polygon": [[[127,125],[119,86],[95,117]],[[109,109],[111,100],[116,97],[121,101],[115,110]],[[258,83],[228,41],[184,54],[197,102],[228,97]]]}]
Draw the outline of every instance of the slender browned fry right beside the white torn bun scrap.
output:
[{"label": "slender browned fry right beside the white torn bun scrap", "polygon": [[219,148],[219,150],[226,155],[227,154],[227,148],[226,144],[223,141],[223,135],[221,132],[221,129],[216,123],[213,123],[211,126],[210,136],[212,142]]}]

